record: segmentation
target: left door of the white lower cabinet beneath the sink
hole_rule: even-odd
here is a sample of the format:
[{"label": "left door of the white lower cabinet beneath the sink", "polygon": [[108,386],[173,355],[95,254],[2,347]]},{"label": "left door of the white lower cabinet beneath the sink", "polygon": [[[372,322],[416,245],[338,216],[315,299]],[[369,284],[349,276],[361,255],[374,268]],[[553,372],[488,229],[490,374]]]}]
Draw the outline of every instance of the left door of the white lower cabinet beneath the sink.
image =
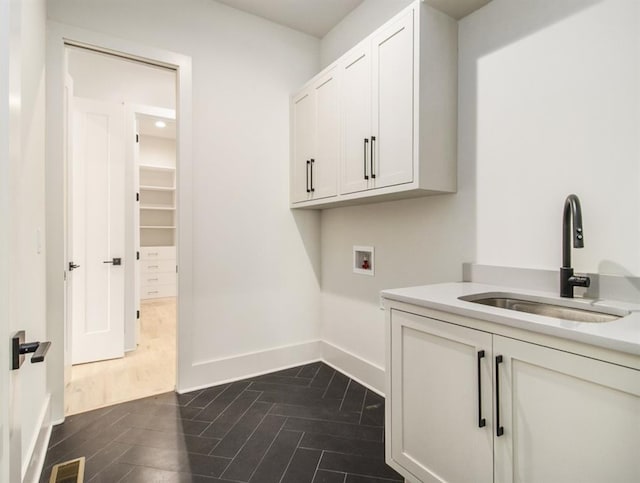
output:
[{"label": "left door of the white lower cabinet beneath the sink", "polygon": [[387,454],[409,481],[493,481],[491,346],[489,333],[391,311]]}]

